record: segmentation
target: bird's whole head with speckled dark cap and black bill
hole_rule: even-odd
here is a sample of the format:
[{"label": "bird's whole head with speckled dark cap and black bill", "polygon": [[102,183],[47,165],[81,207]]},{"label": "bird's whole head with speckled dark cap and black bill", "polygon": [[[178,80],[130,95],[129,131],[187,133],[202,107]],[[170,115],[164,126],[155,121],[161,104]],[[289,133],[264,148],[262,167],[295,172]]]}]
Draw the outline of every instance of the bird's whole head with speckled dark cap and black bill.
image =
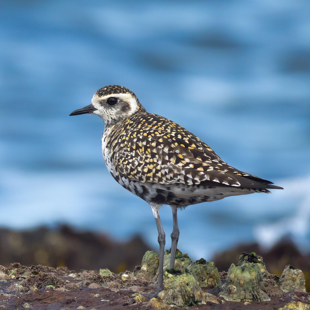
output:
[{"label": "bird's whole head with speckled dark cap and black bill", "polygon": [[128,88],[109,85],[95,92],[91,104],[73,111],[71,115],[93,113],[100,116],[106,125],[112,125],[138,111],[145,111],[136,95]]}]

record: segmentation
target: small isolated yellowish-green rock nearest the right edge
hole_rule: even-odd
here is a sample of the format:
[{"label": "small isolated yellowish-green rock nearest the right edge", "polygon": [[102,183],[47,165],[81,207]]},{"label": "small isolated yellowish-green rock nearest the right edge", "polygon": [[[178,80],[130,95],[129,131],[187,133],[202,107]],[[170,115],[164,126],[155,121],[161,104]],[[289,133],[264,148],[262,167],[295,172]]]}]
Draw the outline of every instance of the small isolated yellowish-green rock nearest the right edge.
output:
[{"label": "small isolated yellowish-green rock nearest the right edge", "polygon": [[300,269],[287,265],[279,279],[279,286],[286,293],[289,291],[305,292],[305,276]]}]

